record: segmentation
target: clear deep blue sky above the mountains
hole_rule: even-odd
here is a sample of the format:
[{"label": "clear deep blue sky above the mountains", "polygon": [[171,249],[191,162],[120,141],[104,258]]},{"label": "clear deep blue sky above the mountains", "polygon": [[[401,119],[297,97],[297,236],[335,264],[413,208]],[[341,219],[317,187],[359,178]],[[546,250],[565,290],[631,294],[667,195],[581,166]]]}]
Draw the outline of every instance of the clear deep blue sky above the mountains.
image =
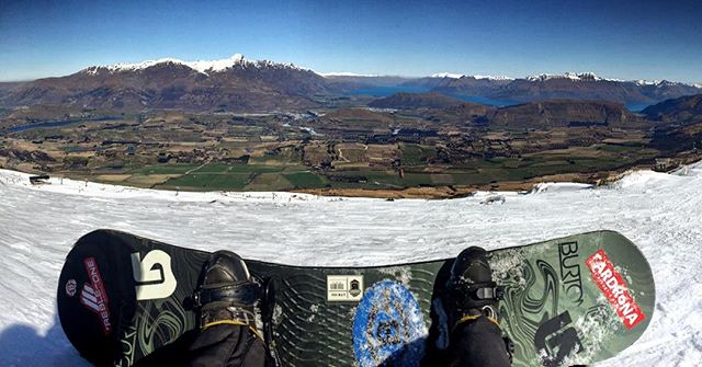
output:
[{"label": "clear deep blue sky above the mountains", "polygon": [[239,53],[319,72],[702,82],[701,22],[697,0],[10,0],[0,1],[0,80]]}]

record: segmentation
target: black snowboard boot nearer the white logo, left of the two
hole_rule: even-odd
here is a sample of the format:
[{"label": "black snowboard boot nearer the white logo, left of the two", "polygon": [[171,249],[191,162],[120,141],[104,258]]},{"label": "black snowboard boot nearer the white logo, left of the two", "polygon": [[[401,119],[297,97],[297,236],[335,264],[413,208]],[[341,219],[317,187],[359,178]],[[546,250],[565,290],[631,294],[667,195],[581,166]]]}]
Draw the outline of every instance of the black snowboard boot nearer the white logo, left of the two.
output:
[{"label": "black snowboard boot nearer the white logo, left of the two", "polygon": [[234,252],[217,251],[210,256],[194,295],[200,328],[227,323],[256,331],[256,303],[260,298],[261,288],[244,260]]}]

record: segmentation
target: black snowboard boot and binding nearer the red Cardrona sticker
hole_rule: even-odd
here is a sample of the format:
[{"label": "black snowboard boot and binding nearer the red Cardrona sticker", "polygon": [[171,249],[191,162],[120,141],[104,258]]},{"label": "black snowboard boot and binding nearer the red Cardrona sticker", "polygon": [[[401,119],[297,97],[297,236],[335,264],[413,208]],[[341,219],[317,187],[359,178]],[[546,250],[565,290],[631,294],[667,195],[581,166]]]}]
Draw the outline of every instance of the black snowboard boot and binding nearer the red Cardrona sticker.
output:
[{"label": "black snowboard boot and binding nearer the red Cardrona sticker", "polygon": [[[486,253],[482,248],[467,248],[458,254],[451,267],[444,297],[451,332],[457,325],[480,317],[488,318],[499,326],[498,301],[503,296],[503,287],[492,280],[492,269]],[[507,336],[502,339],[511,363],[514,344]]]}]

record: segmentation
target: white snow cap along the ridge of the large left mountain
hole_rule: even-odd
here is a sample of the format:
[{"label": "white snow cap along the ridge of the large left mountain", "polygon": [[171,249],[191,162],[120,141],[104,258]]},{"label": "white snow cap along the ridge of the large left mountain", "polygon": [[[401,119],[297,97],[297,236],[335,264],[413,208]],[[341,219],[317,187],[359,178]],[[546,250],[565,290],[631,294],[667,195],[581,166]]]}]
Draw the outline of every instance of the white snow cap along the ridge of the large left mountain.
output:
[{"label": "white snow cap along the ridge of the large left mountain", "polygon": [[83,72],[89,74],[97,74],[101,70],[106,70],[110,72],[121,72],[121,71],[138,71],[144,70],[157,65],[179,65],[183,67],[188,67],[197,72],[202,72],[207,74],[208,72],[219,72],[233,68],[235,66],[240,67],[284,67],[284,68],[295,68],[301,69],[294,66],[293,64],[278,64],[269,60],[247,60],[241,54],[234,54],[231,57],[219,60],[197,60],[197,61],[183,61],[181,59],[176,58],[161,58],[157,60],[146,60],[141,62],[121,62],[115,65],[107,66],[91,66],[83,69]]}]

